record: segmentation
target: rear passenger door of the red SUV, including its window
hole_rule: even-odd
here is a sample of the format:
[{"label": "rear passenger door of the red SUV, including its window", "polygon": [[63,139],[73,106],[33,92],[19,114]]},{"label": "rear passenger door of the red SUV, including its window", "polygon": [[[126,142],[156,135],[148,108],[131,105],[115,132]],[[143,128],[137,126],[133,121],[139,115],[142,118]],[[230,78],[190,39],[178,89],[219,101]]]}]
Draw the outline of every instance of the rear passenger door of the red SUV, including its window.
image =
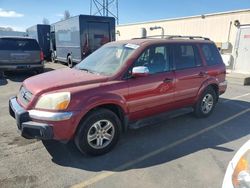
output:
[{"label": "rear passenger door of the red SUV, including its window", "polygon": [[[202,83],[207,79],[207,73],[202,65],[197,45],[180,43],[174,44],[173,47],[176,77],[175,100],[189,100],[197,95]],[[192,100],[189,102],[191,103]]]}]

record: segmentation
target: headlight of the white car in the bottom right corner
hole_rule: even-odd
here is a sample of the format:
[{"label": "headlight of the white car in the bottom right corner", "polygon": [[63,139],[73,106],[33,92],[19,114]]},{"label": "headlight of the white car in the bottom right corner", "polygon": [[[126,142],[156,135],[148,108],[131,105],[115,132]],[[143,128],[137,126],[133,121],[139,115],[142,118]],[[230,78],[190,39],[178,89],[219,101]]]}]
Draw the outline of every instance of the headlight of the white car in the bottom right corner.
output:
[{"label": "headlight of the white car in the bottom right corner", "polygon": [[232,181],[235,188],[250,188],[250,150],[238,161]]}]

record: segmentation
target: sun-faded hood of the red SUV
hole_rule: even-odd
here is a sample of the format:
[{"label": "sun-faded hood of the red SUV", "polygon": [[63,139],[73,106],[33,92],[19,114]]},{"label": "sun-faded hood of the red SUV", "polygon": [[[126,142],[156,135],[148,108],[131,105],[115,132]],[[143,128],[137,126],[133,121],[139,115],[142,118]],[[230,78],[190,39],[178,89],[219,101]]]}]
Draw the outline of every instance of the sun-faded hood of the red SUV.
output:
[{"label": "sun-faded hood of the red SUV", "polygon": [[33,95],[53,90],[107,81],[108,77],[85,71],[63,68],[26,79],[23,85]]}]

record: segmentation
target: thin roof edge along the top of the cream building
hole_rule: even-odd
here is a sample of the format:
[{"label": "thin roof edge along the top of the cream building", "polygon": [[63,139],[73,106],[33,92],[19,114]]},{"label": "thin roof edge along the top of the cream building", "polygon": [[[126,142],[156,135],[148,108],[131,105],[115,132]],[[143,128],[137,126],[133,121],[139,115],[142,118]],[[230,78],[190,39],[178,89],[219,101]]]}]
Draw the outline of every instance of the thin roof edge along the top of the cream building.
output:
[{"label": "thin roof edge along the top of the cream building", "polygon": [[155,22],[166,22],[166,21],[176,21],[176,20],[200,18],[203,16],[210,17],[210,16],[218,16],[218,15],[224,15],[224,14],[235,14],[235,13],[242,13],[242,12],[249,12],[250,13],[250,9],[232,10],[232,11],[217,12],[217,13],[211,13],[211,14],[202,14],[202,15],[194,15],[194,16],[186,16],[186,17],[178,17],[178,18],[169,18],[169,19],[160,19],[160,20],[150,20],[150,21],[145,21],[145,22],[120,24],[120,25],[118,25],[118,27],[119,26],[138,25],[138,24],[149,24],[149,23],[155,23]]}]

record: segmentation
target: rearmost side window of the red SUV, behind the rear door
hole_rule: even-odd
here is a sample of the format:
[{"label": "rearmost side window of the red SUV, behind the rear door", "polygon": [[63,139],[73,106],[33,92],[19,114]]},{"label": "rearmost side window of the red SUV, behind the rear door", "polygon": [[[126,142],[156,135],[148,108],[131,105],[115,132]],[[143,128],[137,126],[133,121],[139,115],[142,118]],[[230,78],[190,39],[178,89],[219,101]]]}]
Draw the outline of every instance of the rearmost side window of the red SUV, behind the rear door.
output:
[{"label": "rearmost side window of the red SUV, behind the rear door", "polygon": [[201,44],[201,49],[204,54],[208,66],[220,64],[221,58],[218,49],[213,44]]}]

